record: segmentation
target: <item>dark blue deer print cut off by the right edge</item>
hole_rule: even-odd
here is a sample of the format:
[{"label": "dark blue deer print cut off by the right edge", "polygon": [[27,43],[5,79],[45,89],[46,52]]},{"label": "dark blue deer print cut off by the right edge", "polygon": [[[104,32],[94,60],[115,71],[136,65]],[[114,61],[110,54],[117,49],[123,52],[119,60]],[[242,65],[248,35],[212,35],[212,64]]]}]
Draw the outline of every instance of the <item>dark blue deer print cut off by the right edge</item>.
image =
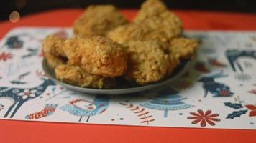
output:
[{"label": "dark blue deer print cut off by the right edge", "polygon": [[226,57],[227,60],[229,61],[230,66],[232,67],[233,71],[237,71],[235,68],[235,64],[238,66],[239,70],[242,72],[242,66],[239,64],[238,59],[242,56],[246,57],[252,57],[256,59],[256,51],[253,50],[237,50],[237,49],[232,49],[232,50],[227,50],[226,51]]}]

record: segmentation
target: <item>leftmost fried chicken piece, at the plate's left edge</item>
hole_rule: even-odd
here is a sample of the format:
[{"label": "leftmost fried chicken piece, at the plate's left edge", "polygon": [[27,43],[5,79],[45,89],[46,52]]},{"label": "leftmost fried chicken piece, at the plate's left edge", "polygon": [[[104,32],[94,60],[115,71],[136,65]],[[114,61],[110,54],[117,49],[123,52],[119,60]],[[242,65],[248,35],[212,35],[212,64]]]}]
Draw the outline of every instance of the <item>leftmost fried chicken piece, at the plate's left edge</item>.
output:
[{"label": "leftmost fried chicken piece, at the plate's left edge", "polygon": [[65,64],[67,59],[62,49],[65,39],[58,36],[47,36],[42,43],[42,50],[45,54],[47,63],[51,68],[55,68],[58,64]]}]

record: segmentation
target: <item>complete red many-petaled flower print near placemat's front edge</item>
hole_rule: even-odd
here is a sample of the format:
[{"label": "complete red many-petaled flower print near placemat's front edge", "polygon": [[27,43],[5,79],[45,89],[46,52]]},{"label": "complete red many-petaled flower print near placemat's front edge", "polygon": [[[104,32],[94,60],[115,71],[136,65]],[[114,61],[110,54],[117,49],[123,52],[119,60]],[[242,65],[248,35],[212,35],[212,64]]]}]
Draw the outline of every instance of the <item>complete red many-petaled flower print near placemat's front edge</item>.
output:
[{"label": "complete red many-petaled flower print near placemat's front edge", "polygon": [[216,118],[219,116],[219,114],[211,114],[211,110],[207,110],[204,113],[203,110],[198,109],[197,112],[198,114],[195,112],[190,112],[193,117],[188,117],[188,119],[193,119],[193,121],[191,122],[192,124],[197,124],[198,122],[200,122],[201,127],[205,127],[206,123],[214,126],[214,122],[221,121],[220,119]]}]

